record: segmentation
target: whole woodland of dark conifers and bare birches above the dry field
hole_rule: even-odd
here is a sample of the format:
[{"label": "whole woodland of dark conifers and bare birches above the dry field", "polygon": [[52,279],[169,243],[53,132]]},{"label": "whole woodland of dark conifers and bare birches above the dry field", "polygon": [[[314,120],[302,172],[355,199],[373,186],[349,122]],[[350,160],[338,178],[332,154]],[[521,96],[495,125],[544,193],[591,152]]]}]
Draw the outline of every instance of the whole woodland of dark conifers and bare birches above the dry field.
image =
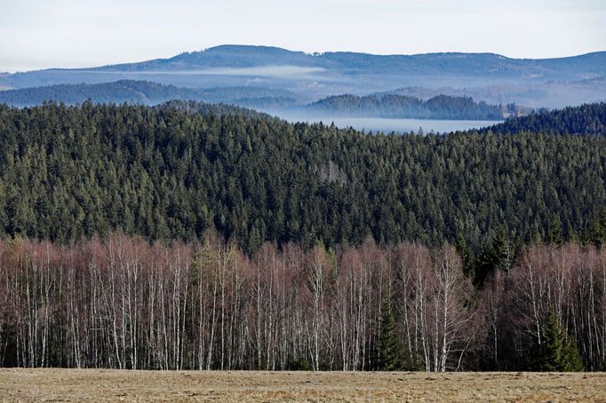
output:
[{"label": "whole woodland of dark conifers and bare birches above the dry field", "polygon": [[518,131],[0,106],[0,365],[603,368],[606,137]]}]

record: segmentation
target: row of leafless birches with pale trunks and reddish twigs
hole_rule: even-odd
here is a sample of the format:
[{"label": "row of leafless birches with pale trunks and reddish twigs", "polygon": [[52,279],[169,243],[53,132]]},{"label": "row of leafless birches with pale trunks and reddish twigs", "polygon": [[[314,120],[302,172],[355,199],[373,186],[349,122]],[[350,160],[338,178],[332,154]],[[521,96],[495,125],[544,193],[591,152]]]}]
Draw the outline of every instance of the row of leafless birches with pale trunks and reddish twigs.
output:
[{"label": "row of leafless birches with pale trunks and reddish twigs", "polygon": [[404,369],[524,367],[549,312],[606,362],[603,250],[527,249],[477,291],[450,246],[0,242],[4,366],[379,369],[386,304]]}]

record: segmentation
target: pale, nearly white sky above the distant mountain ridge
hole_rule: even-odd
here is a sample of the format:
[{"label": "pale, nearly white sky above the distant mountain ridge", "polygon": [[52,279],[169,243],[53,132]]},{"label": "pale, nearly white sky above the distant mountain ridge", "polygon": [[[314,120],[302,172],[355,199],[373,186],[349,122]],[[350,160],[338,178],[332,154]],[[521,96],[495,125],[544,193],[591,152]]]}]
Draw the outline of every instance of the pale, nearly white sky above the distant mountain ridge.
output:
[{"label": "pale, nearly white sky above the distant mountain ridge", "polygon": [[0,0],[0,71],[167,58],[219,44],[292,51],[606,51],[606,0]]}]

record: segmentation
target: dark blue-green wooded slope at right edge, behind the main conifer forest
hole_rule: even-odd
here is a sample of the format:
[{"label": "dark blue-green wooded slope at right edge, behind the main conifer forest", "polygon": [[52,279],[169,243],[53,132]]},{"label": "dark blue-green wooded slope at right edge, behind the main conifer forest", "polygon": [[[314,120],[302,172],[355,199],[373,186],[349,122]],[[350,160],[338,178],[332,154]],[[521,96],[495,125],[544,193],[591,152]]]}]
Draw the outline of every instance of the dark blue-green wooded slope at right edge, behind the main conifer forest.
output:
[{"label": "dark blue-green wooded slope at right edge, behind the main conifer forest", "polygon": [[507,119],[505,122],[484,128],[482,132],[520,133],[523,131],[556,134],[606,135],[606,103],[565,107],[542,111],[528,116]]}]

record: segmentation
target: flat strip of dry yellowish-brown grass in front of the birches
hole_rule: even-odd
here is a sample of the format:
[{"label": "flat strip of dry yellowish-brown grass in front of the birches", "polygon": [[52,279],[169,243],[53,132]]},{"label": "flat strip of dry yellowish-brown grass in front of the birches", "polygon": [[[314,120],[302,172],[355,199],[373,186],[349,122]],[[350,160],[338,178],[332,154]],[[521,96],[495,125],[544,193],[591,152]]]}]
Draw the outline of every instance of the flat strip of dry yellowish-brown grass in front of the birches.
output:
[{"label": "flat strip of dry yellowish-brown grass in front of the birches", "polygon": [[606,374],[0,369],[1,401],[606,401]]}]

